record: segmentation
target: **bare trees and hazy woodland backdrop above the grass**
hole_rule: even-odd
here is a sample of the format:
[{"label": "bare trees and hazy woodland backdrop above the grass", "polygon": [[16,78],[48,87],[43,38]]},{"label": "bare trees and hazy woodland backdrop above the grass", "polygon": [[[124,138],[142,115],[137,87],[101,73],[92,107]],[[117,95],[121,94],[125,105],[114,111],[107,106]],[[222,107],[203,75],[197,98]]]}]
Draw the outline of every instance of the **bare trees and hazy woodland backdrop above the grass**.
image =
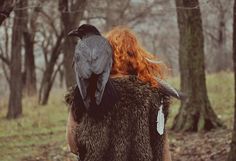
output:
[{"label": "bare trees and hazy woodland backdrop above the grass", "polygon": [[[5,115],[21,116],[22,98],[37,98],[38,104],[46,105],[53,89],[65,91],[74,84],[72,61],[77,40],[68,39],[67,33],[80,24],[90,23],[104,35],[115,26],[130,27],[144,47],[168,65],[170,76],[180,77],[184,99],[172,126],[174,130],[199,131],[222,126],[221,114],[213,111],[215,105],[208,98],[206,75],[236,71],[232,61],[236,43],[233,3],[2,0],[0,98],[9,99]],[[235,160],[235,134],[230,161]]]}]

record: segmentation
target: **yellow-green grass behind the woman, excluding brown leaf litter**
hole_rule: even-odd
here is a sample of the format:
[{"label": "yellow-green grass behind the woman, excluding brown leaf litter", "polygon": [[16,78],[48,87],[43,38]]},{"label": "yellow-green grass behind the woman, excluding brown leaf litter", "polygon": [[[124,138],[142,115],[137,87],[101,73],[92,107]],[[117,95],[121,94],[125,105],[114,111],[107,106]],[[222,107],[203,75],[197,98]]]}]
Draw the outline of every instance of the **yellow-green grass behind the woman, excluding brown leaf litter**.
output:
[{"label": "yellow-green grass behind the woman, excluding brown leaf litter", "polygon": [[[179,87],[179,79],[169,82]],[[212,107],[227,127],[233,121],[233,74],[219,73],[207,76],[207,88]],[[65,126],[67,107],[64,90],[54,90],[47,106],[37,105],[36,98],[25,98],[24,115],[6,120],[7,99],[0,104],[0,160],[73,160],[66,148]],[[168,127],[178,112],[179,102],[173,100]],[[68,159],[70,158],[70,159]]]}]

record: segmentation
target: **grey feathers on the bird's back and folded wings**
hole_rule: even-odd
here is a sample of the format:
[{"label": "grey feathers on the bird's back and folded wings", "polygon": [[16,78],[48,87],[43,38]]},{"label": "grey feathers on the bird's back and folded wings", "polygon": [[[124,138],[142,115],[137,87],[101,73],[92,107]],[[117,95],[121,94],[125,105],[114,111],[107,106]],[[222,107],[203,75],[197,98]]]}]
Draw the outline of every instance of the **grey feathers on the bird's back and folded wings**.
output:
[{"label": "grey feathers on the bird's back and folded wings", "polygon": [[97,105],[101,103],[112,67],[112,54],[109,42],[102,36],[89,36],[77,44],[74,70],[80,94],[83,99],[87,99],[84,100],[85,106],[90,102],[90,98],[87,98],[87,88],[88,79],[93,73],[99,75],[95,98]]}]

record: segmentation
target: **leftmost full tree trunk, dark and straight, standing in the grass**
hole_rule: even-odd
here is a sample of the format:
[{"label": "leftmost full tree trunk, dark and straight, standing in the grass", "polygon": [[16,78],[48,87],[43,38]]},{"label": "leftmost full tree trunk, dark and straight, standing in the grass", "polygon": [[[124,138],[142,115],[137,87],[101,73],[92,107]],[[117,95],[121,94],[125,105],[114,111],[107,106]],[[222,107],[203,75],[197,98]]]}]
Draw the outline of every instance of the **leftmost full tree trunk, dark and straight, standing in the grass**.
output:
[{"label": "leftmost full tree trunk, dark and straight, standing in the grass", "polygon": [[[23,7],[24,2],[20,0],[17,7]],[[12,30],[12,53],[10,64],[10,97],[7,118],[17,118],[22,114],[22,77],[21,77],[21,40],[22,40],[22,10],[15,11]]]}]

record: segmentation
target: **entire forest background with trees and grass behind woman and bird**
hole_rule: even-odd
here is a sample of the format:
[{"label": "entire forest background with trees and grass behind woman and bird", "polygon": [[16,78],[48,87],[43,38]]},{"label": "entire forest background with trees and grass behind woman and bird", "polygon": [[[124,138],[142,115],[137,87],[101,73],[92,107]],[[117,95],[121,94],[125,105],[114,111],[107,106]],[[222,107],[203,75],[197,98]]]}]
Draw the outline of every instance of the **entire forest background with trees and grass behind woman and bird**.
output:
[{"label": "entire forest background with trees and grass behind woman and bird", "polygon": [[165,64],[173,161],[236,161],[236,0],[1,0],[1,161],[77,160],[64,97],[82,24],[125,27]]}]

